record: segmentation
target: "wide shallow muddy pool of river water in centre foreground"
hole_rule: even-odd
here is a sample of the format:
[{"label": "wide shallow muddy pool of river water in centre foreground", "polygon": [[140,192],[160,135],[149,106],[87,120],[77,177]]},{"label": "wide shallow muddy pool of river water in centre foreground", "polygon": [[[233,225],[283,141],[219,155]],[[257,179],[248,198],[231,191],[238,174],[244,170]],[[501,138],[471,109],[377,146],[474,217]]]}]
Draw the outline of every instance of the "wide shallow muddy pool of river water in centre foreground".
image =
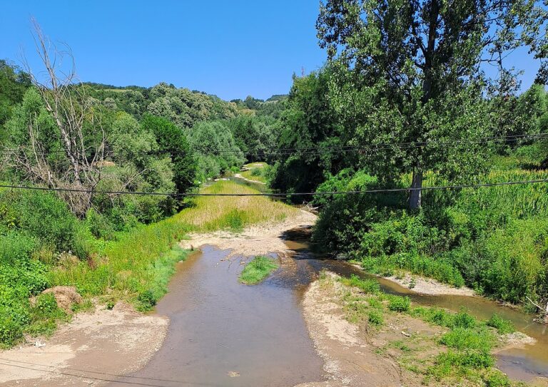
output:
[{"label": "wide shallow muddy pool of river water in centre foreground", "polygon": [[285,259],[265,282],[246,286],[238,282],[240,259],[226,254],[204,247],[179,264],[156,308],[171,319],[166,341],[131,381],[170,387],[321,380],[323,361],[300,306],[316,269],[306,260]]}]

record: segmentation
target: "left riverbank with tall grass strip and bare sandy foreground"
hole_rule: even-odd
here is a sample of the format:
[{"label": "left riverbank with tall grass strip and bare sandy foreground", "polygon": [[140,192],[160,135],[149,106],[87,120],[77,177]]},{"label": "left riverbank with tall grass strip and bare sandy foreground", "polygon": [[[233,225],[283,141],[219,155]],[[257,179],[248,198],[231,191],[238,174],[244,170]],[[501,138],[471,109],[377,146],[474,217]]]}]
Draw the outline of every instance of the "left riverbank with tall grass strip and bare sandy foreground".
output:
[{"label": "left riverbank with tall grass strip and bare sandy foreground", "polygon": [[[203,192],[257,193],[227,181],[215,182]],[[191,231],[217,234],[219,229],[223,231],[218,234],[225,237],[255,234],[265,241],[275,239],[286,227],[311,224],[314,219],[266,197],[198,197],[178,215],[134,229],[108,244],[91,263],[62,262],[51,273],[53,284],[76,287],[83,303],[92,304],[93,313],[75,314],[49,338],[26,336],[19,346],[0,351],[4,359],[0,360],[0,383],[28,381],[35,386],[70,380],[87,386],[88,381],[97,384],[135,371],[166,336],[168,319],[143,315],[135,307],[150,309],[166,293],[176,264],[187,255],[173,244]],[[261,233],[265,239],[260,239]],[[106,376],[97,376],[101,372]]]}]

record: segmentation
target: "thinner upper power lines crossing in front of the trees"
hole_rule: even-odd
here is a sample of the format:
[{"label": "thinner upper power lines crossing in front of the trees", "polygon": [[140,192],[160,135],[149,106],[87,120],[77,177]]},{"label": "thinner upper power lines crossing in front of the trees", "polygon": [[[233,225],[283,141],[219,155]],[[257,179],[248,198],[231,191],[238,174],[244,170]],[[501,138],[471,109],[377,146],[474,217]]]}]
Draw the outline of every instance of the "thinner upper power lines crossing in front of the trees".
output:
[{"label": "thinner upper power lines crossing in front of the trees", "polygon": [[[518,140],[543,140],[548,138],[548,133],[539,133],[535,135],[509,135],[509,136],[491,136],[484,138],[477,138],[475,140],[461,139],[461,140],[425,140],[425,141],[415,141],[407,143],[379,143],[371,144],[369,146],[353,146],[353,145],[340,145],[340,146],[326,146],[326,147],[304,147],[304,148],[278,148],[275,150],[247,150],[243,152],[242,150],[204,150],[198,148],[193,150],[191,153],[198,153],[201,155],[220,155],[223,153],[232,153],[239,154],[244,156],[249,155],[290,155],[292,153],[298,153],[300,155],[316,155],[316,154],[330,154],[330,153],[353,153],[353,152],[378,152],[381,150],[392,150],[394,148],[400,149],[413,149],[413,148],[423,148],[429,145],[440,145],[440,146],[455,146],[462,144],[481,144],[489,143],[491,141],[504,140],[504,141],[518,141]],[[14,148],[0,149],[0,153],[38,153],[38,154],[64,154],[65,150],[39,150],[39,151],[30,151],[30,150],[20,150]],[[85,150],[84,155],[94,153],[93,150]],[[188,153],[182,151],[167,151],[167,150],[151,150],[146,152],[133,152],[131,150],[106,150],[104,152],[106,155],[186,155]]]}]

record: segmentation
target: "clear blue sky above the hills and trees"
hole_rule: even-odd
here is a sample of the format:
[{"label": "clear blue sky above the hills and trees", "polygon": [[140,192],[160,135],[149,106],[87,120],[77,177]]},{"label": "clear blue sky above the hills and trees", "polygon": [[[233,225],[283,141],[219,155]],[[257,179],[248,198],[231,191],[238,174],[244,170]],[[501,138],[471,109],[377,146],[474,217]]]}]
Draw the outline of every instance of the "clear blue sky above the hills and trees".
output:
[{"label": "clear blue sky above the hills and trees", "polygon": [[[6,1],[0,58],[38,67],[34,16],[54,41],[71,46],[82,81],[153,86],[166,81],[230,100],[287,93],[293,73],[322,66],[315,19],[319,0]],[[514,53],[523,86],[538,63]]]}]

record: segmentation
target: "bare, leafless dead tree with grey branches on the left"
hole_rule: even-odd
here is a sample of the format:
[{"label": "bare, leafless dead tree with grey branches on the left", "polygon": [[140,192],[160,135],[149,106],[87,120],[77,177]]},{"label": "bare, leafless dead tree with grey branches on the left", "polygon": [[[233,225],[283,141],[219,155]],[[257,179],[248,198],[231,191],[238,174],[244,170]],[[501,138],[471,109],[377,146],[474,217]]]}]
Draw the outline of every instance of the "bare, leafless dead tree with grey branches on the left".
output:
[{"label": "bare, leafless dead tree with grey branches on the left", "polygon": [[[59,144],[66,157],[66,165],[52,165],[41,146],[40,128],[36,120],[29,120],[29,144],[17,153],[14,162],[26,172],[30,180],[52,188],[68,189],[59,195],[71,211],[82,217],[91,207],[92,193],[101,180],[101,165],[105,158],[106,135],[96,117],[91,99],[76,78],[73,56],[68,46],[59,50],[41,31],[33,19],[36,52],[45,71],[36,75],[25,61],[26,71],[39,91],[44,106],[53,118]],[[64,59],[71,61],[64,71]],[[87,128],[87,132],[86,132]],[[89,141],[93,138],[92,141]]]}]

